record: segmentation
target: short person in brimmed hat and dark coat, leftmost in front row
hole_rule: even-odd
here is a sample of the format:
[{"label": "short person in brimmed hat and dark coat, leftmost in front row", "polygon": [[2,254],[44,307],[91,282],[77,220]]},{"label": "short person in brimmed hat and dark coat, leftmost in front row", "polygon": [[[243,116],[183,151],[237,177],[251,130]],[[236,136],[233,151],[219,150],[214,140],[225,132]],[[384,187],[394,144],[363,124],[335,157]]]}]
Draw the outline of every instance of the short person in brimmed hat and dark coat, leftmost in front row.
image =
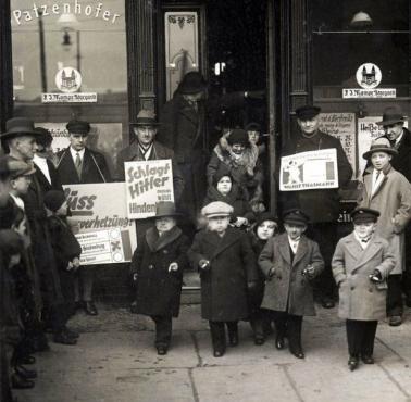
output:
[{"label": "short person in brimmed hat and dark coat, leftmost in front row", "polygon": [[154,344],[160,355],[170,347],[172,317],[178,316],[183,271],[188,265],[189,242],[177,227],[178,215],[173,202],[158,203],[155,226],[146,231],[132,259],[135,312],[155,323]]}]

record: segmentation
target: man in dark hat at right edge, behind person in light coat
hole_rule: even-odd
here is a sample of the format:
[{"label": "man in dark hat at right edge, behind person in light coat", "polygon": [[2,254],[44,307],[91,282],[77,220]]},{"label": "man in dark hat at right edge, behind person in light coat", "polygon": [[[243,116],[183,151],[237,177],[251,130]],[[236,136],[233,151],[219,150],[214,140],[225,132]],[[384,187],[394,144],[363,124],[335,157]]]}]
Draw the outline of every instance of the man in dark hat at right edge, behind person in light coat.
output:
[{"label": "man in dark hat at right edge, behind person in light coat", "polygon": [[[398,153],[393,155],[391,166],[411,183],[411,133],[403,126],[406,122],[399,106],[386,108],[383,120],[377,122],[383,126],[384,137]],[[406,228],[406,271],[402,278],[406,304],[411,307],[411,225]]]}]

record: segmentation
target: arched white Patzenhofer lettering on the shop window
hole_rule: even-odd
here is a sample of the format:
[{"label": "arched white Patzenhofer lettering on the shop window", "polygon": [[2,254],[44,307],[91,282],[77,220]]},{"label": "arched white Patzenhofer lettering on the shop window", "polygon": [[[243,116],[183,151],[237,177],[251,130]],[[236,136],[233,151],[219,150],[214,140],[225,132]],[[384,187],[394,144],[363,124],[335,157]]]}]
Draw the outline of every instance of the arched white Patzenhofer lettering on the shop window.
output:
[{"label": "arched white Patzenhofer lettering on the shop window", "polygon": [[40,16],[47,17],[49,15],[61,15],[61,14],[75,14],[85,15],[90,18],[99,18],[107,21],[108,23],[114,24],[116,20],[121,16],[104,8],[102,2],[89,3],[80,0],[66,1],[63,3],[53,4],[36,4],[33,3],[30,9],[25,10],[13,10],[12,15],[17,25],[24,22],[30,22],[34,18],[39,18]]}]

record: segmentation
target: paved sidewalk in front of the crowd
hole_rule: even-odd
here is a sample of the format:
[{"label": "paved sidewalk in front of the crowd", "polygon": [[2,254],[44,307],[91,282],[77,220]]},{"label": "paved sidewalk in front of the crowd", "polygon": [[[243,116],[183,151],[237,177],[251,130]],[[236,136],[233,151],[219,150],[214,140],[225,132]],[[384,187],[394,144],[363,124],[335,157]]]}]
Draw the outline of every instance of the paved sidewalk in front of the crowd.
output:
[{"label": "paved sidewalk in front of the crowd", "polygon": [[74,347],[50,343],[37,355],[36,388],[16,392],[20,402],[338,402],[411,401],[411,311],[400,327],[381,323],[374,365],[347,368],[344,323],[337,310],[317,307],[303,324],[306,359],[277,351],[272,336],[253,344],[248,323],[240,343],[212,356],[208,323],[199,305],[185,305],[175,321],[169,354],[158,356],[149,318],[126,310],[78,314]]}]

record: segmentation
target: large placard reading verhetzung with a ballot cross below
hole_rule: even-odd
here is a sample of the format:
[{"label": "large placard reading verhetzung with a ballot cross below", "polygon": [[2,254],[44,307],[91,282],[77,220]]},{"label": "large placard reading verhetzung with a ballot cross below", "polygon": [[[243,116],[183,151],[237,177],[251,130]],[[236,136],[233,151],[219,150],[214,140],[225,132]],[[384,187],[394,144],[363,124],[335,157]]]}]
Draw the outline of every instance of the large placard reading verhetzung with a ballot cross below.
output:
[{"label": "large placard reading verhetzung with a ballot cross below", "polygon": [[[82,257],[86,259],[84,264],[130,261],[137,248],[137,236],[135,222],[127,217],[124,183],[63,187],[72,217],[77,221],[76,236],[90,234],[88,237],[79,237],[85,253]],[[101,234],[97,234],[98,231]],[[86,249],[85,244],[88,244]]]}]

